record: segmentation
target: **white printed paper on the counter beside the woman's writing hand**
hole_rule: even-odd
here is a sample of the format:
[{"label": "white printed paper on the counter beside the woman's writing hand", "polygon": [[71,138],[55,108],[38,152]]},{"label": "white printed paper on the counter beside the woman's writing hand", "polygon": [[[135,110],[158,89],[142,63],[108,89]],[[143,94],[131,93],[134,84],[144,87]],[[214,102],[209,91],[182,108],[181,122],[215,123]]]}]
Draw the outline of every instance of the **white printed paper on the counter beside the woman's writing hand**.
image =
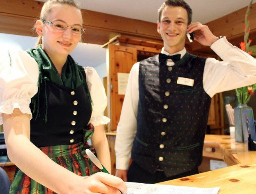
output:
[{"label": "white printed paper on the counter beside the woman's writing hand", "polygon": [[198,188],[188,186],[174,186],[166,184],[144,184],[125,182],[126,194],[218,194],[220,187]]}]

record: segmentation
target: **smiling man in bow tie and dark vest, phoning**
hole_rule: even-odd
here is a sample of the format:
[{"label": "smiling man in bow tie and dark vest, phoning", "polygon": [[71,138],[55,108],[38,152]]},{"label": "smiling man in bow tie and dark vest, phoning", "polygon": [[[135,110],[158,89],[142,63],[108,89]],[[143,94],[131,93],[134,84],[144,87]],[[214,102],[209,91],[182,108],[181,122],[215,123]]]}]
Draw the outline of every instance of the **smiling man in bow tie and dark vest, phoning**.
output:
[{"label": "smiling man in bow tie and dark vest, phoning", "polygon": [[[129,182],[198,173],[211,98],[256,83],[256,60],[208,26],[191,23],[192,10],[183,0],[166,0],[158,18],[164,48],[132,67],[117,127],[116,176]],[[186,52],[187,32],[223,61]]]}]

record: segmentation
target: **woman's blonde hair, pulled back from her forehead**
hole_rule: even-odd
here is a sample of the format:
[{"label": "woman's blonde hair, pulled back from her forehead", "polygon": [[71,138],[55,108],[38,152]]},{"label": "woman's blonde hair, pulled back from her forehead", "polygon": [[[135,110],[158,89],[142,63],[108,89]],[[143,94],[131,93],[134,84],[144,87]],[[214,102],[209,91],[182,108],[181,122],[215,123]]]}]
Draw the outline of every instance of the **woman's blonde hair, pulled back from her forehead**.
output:
[{"label": "woman's blonde hair, pulled back from her forehead", "polygon": [[[70,5],[78,8],[81,12],[80,4],[76,0],[48,0],[42,7],[39,20],[44,21],[46,17],[52,12],[52,9],[57,5]],[[38,37],[36,46],[42,44],[42,36]]]}]

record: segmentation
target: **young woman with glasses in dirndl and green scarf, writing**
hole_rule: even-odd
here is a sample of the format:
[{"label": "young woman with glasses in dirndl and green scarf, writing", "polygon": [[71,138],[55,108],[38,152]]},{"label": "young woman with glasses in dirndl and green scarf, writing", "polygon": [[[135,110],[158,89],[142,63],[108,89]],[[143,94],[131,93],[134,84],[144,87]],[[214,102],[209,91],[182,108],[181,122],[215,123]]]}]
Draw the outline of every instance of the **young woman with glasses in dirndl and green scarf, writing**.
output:
[{"label": "young woman with glasses in dirndl and green scarf, writing", "polygon": [[69,55],[82,22],[74,0],[49,0],[35,24],[37,48],[0,52],[0,124],[19,168],[11,194],[126,192],[120,178],[100,172],[85,153],[97,151],[110,170],[104,87],[92,67]]}]

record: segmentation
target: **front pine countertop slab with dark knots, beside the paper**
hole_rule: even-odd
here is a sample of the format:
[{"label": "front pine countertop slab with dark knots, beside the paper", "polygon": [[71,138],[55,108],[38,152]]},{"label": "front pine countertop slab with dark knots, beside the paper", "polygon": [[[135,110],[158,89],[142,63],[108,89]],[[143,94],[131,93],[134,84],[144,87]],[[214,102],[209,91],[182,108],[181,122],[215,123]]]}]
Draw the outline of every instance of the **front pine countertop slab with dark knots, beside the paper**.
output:
[{"label": "front pine countertop slab with dark knots, beside the paper", "polygon": [[211,188],[220,186],[218,194],[255,194],[256,164],[236,164],[218,170],[177,178],[158,184]]}]

